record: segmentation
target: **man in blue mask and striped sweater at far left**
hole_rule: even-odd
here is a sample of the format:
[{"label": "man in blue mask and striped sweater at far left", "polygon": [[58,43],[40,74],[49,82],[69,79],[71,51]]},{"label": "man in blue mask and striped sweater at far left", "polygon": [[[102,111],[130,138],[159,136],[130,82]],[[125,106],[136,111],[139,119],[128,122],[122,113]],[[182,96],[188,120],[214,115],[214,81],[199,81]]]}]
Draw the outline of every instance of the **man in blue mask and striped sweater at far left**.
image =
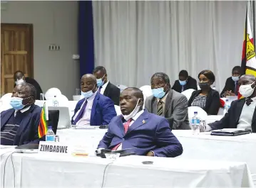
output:
[{"label": "man in blue mask and striped sweater at far left", "polygon": [[35,98],[34,86],[16,85],[10,101],[13,108],[1,112],[1,145],[39,143],[41,108],[34,104]]}]

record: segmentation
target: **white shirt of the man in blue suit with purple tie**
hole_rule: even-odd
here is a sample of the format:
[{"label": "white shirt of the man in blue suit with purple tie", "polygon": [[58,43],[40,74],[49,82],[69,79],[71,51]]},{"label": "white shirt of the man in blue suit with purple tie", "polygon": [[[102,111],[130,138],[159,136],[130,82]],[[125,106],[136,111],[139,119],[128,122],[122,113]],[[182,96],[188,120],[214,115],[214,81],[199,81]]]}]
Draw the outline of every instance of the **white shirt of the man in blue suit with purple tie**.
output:
[{"label": "white shirt of the man in blue suit with purple tie", "polygon": [[[91,109],[93,108],[93,101],[96,96],[97,92],[93,93],[92,96],[90,96],[87,99],[86,109],[84,109],[84,113],[82,118],[76,123],[76,126],[90,126],[90,120],[91,120]],[[81,105],[81,108],[76,112],[76,115],[73,116],[73,120],[76,119],[76,116],[78,116],[79,112],[83,108],[83,105],[85,104],[86,100],[83,101],[83,104]]]}]

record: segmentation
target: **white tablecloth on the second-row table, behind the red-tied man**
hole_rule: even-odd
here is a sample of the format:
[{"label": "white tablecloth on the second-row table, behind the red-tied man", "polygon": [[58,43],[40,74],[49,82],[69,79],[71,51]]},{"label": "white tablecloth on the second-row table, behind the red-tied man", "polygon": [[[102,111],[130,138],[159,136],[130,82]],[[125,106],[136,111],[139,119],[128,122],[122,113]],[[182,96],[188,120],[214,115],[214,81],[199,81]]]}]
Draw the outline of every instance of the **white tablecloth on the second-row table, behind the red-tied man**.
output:
[{"label": "white tablecloth on the second-row table, behind the red-tied man", "polygon": [[[63,129],[57,134],[62,141],[73,145],[84,145],[91,150],[97,148],[99,140],[106,129]],[[210,136],[210,133],[200,133],[193,136],[190,130],[173,133],[183,145],[183,159],[225,160],[233,162],[247,162],[256,185],[256,134],[243,136]]]}]

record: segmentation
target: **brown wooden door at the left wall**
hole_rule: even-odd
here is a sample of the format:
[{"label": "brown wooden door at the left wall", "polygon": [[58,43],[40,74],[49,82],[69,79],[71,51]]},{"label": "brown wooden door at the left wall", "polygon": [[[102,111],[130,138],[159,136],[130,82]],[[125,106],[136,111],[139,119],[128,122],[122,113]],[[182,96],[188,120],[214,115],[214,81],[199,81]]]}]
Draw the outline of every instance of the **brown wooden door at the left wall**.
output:
[{"label": "brown wooden door at the left wall", "polygon": [[33,77],[33,25],[1,23],[1,91],[14,89],[14,72]]}]

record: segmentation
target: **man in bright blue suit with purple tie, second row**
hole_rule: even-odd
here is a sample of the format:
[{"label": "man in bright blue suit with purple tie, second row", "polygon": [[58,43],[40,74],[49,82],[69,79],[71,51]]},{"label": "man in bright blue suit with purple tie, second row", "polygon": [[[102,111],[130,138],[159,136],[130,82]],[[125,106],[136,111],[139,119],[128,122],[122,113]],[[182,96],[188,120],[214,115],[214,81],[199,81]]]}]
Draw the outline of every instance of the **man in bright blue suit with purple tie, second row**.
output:
[{"label": "man in bright blue suit with purple tie, second row", "polygon": [[72,125],[101,126],[108,125],[116,116],[113,101],[97,92],[97,81],[93,74],[84,74],[81,78],[81,95],[72,117]]}]

